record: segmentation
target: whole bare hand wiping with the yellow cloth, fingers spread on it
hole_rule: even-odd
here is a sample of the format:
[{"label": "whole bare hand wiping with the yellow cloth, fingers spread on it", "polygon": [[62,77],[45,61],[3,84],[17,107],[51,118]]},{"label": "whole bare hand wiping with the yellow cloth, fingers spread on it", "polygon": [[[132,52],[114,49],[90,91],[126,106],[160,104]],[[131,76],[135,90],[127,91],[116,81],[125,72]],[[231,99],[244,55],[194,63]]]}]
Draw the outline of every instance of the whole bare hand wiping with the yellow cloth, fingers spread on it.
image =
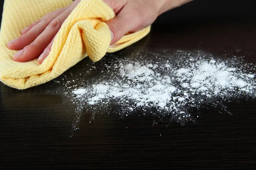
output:
[{"label": "whole bare hand wiping with the yellow cloth, fingers spread on it", "polygon": [[[21,31],[21,36],[8,42],[7,47],[20,50],[13,56],[17,62],[28,62],[37,58],[41,64],[49,55],[54,37],[62,23],[81,0],[70,6],[52,11]],[[128,32],[135,32],[151,25],[161,13],[191,0],[103,0],[110,6],[116,17],[107,21],[111,30],[111,44]]]}]

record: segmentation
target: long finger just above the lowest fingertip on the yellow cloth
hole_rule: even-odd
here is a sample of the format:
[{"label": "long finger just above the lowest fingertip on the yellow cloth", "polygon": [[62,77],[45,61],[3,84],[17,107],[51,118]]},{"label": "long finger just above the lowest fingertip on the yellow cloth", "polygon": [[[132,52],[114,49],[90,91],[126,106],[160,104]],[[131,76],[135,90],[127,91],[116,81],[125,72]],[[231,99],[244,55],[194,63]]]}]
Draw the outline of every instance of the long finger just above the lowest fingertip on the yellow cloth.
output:
[{"label": "long finger just above the lowest fingertip on the yellow cloth", "polygon": [[[36,37],[36,39],[32,43],[23,48],[23,50],[18,51],[16,54],[14,54],[13,60],[17,62],[28,62],[42,54],[44,49],[50,44],[52,39],[55,37],[58,30],[61,28],[62,23],[71,13],[71,11],[72,10],[68,8],[66,11],[58,15],[58,17],[53,19],[49,23],[49,25],[44,29],[44,31],[38,37]],[[29,32],[27,32],[27,34],[28,33]],[[44,54],[46,53],[47,50]]]}]

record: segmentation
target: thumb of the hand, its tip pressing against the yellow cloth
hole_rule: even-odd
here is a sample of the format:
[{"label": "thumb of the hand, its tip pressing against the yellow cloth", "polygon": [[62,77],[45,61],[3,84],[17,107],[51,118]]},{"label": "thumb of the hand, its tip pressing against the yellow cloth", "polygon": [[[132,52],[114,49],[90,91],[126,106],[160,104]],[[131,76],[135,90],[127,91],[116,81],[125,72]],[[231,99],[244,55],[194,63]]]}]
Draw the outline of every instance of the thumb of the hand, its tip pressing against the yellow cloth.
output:
[{"label": "thumb of the hand, its tip pressing against the yellow cloth", "polygon": [[121,11],[115,18],[106,22],[111,31],[112,40],[110,45],[119,41],[126,33],[133,30],[135,27],[133,20],[128,16],[129,15],[125,15]]}]

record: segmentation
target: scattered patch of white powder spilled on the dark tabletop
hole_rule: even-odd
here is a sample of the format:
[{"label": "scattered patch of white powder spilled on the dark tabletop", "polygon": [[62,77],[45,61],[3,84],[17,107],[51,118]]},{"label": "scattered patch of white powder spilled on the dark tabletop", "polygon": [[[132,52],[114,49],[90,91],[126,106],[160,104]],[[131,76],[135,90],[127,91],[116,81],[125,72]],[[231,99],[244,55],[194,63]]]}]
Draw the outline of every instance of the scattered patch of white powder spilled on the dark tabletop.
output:
[{"label": "scattered patch of white powder spilled on the dark tabletop", "polygon": [[220,59],[184,51],[177,51],[177,58],[155,55],[155,60],[134,57],[105,62],[103,58],[104,65],[91,68],[102,70],[97,77],[79,75],[79,88],[70,88],[73,100],[93,113],[113,112],[115,108],[121,116],[141,111],[172,115],[172,120],[186,122],[192,120],[192,108],[255,98],[255,67],[241,58]]}]

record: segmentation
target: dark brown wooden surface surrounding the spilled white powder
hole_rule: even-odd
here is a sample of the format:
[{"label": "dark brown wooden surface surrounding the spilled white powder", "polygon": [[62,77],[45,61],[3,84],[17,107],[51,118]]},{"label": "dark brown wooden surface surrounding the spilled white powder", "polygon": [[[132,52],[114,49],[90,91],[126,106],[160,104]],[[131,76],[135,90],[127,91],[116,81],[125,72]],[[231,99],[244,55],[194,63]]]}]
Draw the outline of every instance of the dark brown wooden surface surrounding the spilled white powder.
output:
[{"label": "dark brown wooden surface surrounding the spilled white powder", "polygon": [[[245,56],[256,64],[255,5],[197,0],[162,15],[150,35],[128,48],[204,50]],[[156,118],[140,113],[125,119],[98,114],[89,123],[91,113],[84,113],[70,137],[74,106],[64,104],[62,96],[44,94],[58,88],[49,82],[18,91],[0,83],[1,169],[256,169],[255,100],[229,103],[232,115],[201,108],[197,122],[184,126],[153,126]]]}]

